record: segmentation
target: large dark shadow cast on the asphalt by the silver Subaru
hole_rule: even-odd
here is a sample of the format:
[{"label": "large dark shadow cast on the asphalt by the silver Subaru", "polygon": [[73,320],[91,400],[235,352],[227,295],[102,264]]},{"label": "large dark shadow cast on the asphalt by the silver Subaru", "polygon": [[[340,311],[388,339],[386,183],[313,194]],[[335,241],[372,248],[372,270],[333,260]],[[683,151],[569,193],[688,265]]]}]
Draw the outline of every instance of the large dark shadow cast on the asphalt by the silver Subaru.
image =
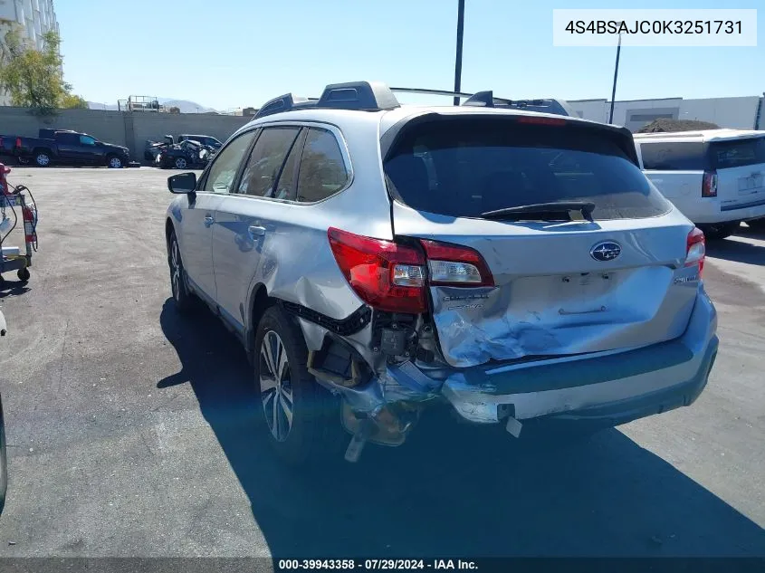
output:
[{"label": "large dark shadow cast on the asphalt by the silver Subaru", "polygon": [[[274,558],[751,556],[765,530],[617,430],[533,451],[499,428],[424,418],[359,464],[286,470],[271,454],[244,350],[208,311],[161,313]],[[331,467],[330,467],[331,466]]]}]

